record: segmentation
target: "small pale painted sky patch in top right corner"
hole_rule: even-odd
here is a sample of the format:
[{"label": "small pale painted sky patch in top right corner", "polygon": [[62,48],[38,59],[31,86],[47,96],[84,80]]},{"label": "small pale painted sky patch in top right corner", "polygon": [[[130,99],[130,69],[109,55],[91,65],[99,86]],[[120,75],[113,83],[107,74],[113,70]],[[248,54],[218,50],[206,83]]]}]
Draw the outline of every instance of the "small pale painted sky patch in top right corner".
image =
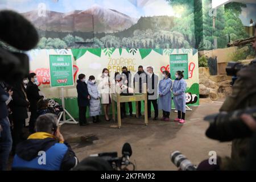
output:
[{"label": "small pale painted sky patch in top right corner", "polygon": [[253,19],[256,22],[256,4],[246,4],[246,8],[242,9],[242,14],[240,15],[240,19],[244,26],[249,26],[250,19]]}]

